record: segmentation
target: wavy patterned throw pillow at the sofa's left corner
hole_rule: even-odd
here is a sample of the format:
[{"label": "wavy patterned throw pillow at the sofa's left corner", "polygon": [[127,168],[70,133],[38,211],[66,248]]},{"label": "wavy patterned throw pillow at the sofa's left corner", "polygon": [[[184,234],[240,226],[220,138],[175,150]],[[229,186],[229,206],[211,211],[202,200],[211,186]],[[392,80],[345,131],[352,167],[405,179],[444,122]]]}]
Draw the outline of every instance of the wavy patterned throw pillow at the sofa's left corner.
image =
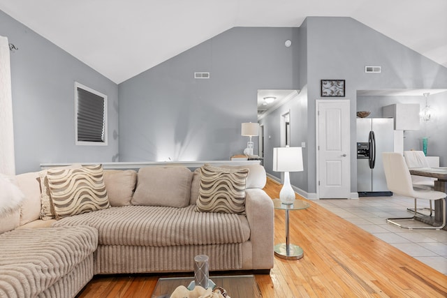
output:
[{"label": "wavy patterned throw pillow at the sofa's left corner", "polygon": [[110,207],[103,165],[50,169],[47,170],[47,179],[57,219]]}]

